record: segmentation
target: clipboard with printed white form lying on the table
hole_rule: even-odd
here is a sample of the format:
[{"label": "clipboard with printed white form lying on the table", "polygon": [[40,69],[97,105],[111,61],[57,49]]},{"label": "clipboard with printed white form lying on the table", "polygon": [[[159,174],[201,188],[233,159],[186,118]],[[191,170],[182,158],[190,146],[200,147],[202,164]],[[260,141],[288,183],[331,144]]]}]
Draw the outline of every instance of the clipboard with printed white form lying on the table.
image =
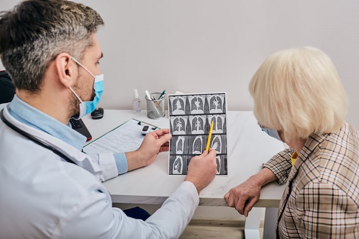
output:
[{"label": "clipboard with printed white form lying on the table", "polygon": [[85,153],[134,151],[138,149],[144,139],[141,131],[146,125],[150,127],[150,132],[159,129],[157,126],[143,121],[130,119],[95,141],[88,143],[82,150]]}]

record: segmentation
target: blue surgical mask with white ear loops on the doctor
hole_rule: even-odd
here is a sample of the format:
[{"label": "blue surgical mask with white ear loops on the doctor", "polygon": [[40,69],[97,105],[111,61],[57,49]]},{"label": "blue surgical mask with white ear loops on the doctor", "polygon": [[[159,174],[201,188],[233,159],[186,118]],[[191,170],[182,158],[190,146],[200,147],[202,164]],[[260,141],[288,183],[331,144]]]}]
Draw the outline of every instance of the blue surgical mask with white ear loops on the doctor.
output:
[{"label": "blue surgical mask with white ear loops on the doctor", "polygon": [[102,92],[104,91],[104,74],[95,76],[86,67],[84,67],[80,62],[78,62],[75,58],[73,58],[72,56],[71,56],[71,58],[77,64],[79,64],[82,68],[84,68],[88,73],[90,73],[90,75],[93,76],[93,78],[95,78],[94,90],[95,90],[96,95],[95,95],[94,99],[91,100],[91,101],[82,101],[80,99],[80,97],[74,92],[74,90],[72,90],[72,88],[69,87],[71,92],[80,101],[79,115],[78,115],[78,117],[75,117],[75,119],[81,119],[83,116],[85,116],[85,115],[91,113],[92,111],[94,111],[96,109],[96,106],[99,104]]}]

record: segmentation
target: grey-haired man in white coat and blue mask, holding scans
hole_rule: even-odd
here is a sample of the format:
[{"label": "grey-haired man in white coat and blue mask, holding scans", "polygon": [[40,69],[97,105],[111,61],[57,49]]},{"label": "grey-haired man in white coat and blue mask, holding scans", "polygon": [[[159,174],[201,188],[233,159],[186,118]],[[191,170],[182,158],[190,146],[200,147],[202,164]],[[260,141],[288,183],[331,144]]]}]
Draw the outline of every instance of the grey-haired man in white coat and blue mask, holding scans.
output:
[{"label": "grey-haired man in white coat and blue mask, holding scans", "polygon": [[0,238],[178,238],[215,177],[210,149],[146,221],[112,208],[101,181],[152,163],[171,135],[152,132],[133,152],[81,152],[86,139],[68,121],[100,100],[102,24],[95,10],[65,0],[28,0],[0,15],[1,61],[16,88],[0,105]]}]

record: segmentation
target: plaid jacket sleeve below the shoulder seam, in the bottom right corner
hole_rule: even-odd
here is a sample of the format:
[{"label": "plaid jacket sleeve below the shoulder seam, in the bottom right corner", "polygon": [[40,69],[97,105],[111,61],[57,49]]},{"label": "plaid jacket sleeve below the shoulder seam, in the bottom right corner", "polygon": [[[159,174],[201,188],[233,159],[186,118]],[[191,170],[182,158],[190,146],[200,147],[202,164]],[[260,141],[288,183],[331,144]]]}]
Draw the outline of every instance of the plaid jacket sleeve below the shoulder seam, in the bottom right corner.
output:
[{"label": "plaid jacket sleeve below the shoulder seam, in the bottom right corner", "polygon": [[306,185],[297,197],[296,209],[302,238],[359,237],[358,205],[333,184]]}]

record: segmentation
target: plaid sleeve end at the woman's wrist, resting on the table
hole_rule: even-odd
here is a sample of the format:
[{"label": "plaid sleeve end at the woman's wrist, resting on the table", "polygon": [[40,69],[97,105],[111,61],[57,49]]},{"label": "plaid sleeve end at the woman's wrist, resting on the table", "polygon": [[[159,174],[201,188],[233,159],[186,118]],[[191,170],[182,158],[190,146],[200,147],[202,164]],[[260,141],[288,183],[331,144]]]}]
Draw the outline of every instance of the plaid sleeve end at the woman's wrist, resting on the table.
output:
[{"label": "plaid sleeve end at the woman's wrist, resting on the table", "polygon": [[291,156],[294,153],[292,148],[287,148],[274,155],[268,162],[263,163],[263,168],[268,168],[278,178],[278,184],[287,182],[289,172],[292,169]]}]

